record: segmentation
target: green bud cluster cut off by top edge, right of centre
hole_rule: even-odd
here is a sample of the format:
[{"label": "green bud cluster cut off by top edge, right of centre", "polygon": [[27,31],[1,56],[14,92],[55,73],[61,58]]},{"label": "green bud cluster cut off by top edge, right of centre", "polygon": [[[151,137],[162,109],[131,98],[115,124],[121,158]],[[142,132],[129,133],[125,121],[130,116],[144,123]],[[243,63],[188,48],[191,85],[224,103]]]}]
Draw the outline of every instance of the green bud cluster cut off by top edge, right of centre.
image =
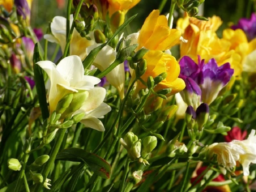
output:
[{"label": "green bud cluster cut off by top edge, right of centre", "polygon": [[177,5],[185,12],[188,12],[189,17],[195,17],[200,20],[208,20],[205,17],[197,16],[198,6],[204,3],[204,0],[176,0]]}]

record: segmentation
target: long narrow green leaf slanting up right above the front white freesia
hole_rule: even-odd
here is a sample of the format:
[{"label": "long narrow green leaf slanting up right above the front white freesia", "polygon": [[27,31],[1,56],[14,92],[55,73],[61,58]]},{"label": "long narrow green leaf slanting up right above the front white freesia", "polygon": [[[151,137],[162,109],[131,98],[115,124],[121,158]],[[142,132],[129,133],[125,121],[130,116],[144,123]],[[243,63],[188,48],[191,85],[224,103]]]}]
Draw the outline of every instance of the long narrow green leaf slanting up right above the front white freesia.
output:
[{"label": "long narrow green leaf slanting up right above the front white freesia", "polygon": [[83,65],[84,68],[88,68],[89,66],[92,65],[93,60],[95,59],[95,57],[97,56],[97,54],[100,52],[100,50],[105,47],[112,39],[115,38],[115,36],[118,35],[118,33],[120,33],[120,31],[122,31],[135,17],[137,16],[137,14],[133,15],[132,17],[130,17],[129,19],[127,19],[126,21],[124,21],[124,23],[117,28],[116,32],[110,37],[110,39],[108,39],[108,41],[104,44],[101,44],[99,47],[94,48],[85,58],[85,60],[83,61]]}]

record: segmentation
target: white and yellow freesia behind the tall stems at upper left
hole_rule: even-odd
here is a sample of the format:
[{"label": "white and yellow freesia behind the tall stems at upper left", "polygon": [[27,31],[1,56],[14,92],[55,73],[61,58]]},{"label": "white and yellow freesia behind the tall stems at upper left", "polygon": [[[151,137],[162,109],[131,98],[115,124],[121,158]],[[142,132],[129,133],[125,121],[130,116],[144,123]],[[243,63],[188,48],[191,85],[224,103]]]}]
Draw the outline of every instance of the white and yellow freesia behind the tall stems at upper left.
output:
[{"label": "white and yellow freesia behind the tall stems at upper left", "polygon": [[[51,22],[52,34],[44,35],[44,38],[48,41],[60,44],[62,53],[64,52],[66,46],[66,22],[67,19],[65,17],[54,17]],[[72,22],[73,15],[71,14],[69,25],[70,27],[72,25]],[[87,56],[85,52],[86,47],[95,44],[93,32],[91,32],[88,36],[91,38],[91,40],[88,40],[85,37],[81,37],[80,34],[77,32],[76,28],[74,28],[69,46],[70,55],[78,55],[81,58],[81,60],[84,60],[84,58]]]}]

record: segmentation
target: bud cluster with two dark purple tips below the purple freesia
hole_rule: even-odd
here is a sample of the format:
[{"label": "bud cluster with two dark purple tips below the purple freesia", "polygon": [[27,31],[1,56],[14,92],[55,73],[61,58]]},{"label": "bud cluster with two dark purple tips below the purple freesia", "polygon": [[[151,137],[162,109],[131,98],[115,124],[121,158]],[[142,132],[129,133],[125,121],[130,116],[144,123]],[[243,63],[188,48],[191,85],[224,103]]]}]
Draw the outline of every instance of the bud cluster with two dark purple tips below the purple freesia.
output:
[{"label": "bud cluster with two dark purple tips below the purple freesia", "polygon": [[188,135],[192,140],[198,140],[202,136],[204,125],[209,119],[209,106],[202,103],[196,108],[188,106],[185,114],[185,121],[188,125]]}]

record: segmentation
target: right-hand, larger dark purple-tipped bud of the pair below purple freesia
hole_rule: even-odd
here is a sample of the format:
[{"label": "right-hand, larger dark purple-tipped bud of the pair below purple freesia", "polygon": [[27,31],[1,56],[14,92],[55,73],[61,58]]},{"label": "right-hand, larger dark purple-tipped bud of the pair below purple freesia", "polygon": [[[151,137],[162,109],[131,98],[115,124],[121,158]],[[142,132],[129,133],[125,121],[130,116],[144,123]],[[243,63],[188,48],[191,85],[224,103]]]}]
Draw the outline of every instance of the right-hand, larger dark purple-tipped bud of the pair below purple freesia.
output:
[{"label": "right-hand, larger dark purple-tipped bud of the pair below purple freesia", "polygon": [[199,131],[202,131],[204,124],[209,118],[209,106],[206,103],[202,103],[196,108],[196,123],[198,124]]}]

